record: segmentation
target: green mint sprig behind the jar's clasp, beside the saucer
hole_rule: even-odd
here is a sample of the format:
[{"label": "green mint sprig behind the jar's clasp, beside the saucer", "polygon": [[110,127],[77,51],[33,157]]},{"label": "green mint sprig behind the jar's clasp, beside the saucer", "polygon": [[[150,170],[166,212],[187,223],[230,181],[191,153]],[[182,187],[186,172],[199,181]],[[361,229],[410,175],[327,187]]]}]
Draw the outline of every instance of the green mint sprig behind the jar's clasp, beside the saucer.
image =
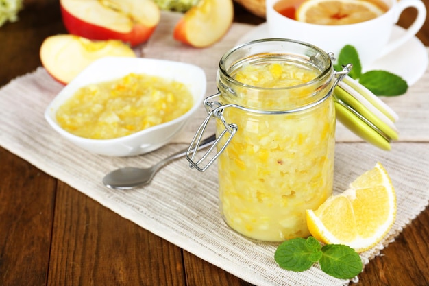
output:
[{"label": "green mint sprig behind the jar's clasp, beside the saucer", "polygon": [[352,64],[353,69],[349,75],[358,80],[360,84],[368,88],[375,95],[396,96],[403,95],[408,89],[408,84],[399,75],[389,71],[367,71],[362,73],[358,51],[352,45],[345,45],[341,49],[334,69],[341,71],[346,64]]}]

